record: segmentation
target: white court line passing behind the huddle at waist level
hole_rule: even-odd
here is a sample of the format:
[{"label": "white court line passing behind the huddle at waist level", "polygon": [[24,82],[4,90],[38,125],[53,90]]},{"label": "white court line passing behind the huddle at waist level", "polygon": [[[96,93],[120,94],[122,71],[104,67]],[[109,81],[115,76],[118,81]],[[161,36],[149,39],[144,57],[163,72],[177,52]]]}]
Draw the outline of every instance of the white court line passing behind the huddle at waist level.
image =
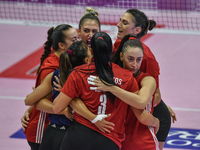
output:
[{"label": "white court line passing behind the huddle at waist level", "polygon": [[[17,96],[0,96],[0,99],[12,99],[12,100],[25,100],[25,97],[17,97]],[[181,111],[194,111],[200,112],[200,109],[192,109],[192,108],[175,108],[172,107],[173,110],[181,110]]]}]

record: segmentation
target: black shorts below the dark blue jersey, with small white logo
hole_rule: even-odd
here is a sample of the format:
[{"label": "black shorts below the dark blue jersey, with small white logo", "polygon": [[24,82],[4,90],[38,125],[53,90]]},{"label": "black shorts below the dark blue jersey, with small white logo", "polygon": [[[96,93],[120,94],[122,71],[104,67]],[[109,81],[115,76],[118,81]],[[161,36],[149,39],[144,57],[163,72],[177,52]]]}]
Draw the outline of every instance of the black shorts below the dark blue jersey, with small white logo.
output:
[{"label": "black shorts below the dark blue jersey, with small white logo", "polygon": [[44,130],[39,150],[59,150],[69,126],[50,123]]}]

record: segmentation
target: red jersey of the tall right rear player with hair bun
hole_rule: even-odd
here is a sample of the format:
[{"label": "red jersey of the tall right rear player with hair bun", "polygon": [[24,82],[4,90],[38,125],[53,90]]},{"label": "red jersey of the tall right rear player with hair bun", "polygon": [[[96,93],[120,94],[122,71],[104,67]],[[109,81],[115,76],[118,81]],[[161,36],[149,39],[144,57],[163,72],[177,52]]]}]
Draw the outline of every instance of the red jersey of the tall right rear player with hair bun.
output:
[{"label": "red jersey of the tall right rear player with hair bun", "polygon": [[[120,43],[121,43],[121,39],[117,39],[115,41],[113,53],[115,53],[117,51]],[[151,52],[151,50],[149,49],[149,47],[142,42],[141,42],[141,44],[142,44],[142,47],[144,50],[144,56],[142,59],[142,64],[140,66],[140,70],[144,73],[147,72],[152,77],[154,77],[156,80],[156,83],[157,83],[157,87],[159,87],[158,76],[160,74],[160,68],[159,68],[158,62],[157,62],[155,56],[153,55],[153,53]]]}]

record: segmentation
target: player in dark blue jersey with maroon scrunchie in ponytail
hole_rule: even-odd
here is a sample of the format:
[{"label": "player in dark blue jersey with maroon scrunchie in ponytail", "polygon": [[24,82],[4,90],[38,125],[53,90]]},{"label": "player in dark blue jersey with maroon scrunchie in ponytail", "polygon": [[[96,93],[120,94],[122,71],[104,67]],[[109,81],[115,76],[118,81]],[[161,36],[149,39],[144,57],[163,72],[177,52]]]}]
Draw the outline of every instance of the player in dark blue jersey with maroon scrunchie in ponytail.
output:
[{"label": "player in dark blue jersey with maroon scrunchie in ponytail", "polygon": [[58,150],[63,136],[67,132],[72,120],[72,109],[70,107],[66,107],[59,115],[54,114],[52,110],[52,102],[43,97],[51,95],[53,92],[54,100],[59,94],[58,91],[53,90],[53,81],[56,82],[55,76],[60,79],[61,86],[64,85],[71,70],[76,66],[90,62],[91,57],[91,52],[85,42],[74,42],[66,52],[63,52],[60,55],[59,69],[47,75],[44,81],[26,97],[26,105],[34,105],[37,103],[37,109],[50,113],[48,117],[50,124],[44,131],[39,149]]}]

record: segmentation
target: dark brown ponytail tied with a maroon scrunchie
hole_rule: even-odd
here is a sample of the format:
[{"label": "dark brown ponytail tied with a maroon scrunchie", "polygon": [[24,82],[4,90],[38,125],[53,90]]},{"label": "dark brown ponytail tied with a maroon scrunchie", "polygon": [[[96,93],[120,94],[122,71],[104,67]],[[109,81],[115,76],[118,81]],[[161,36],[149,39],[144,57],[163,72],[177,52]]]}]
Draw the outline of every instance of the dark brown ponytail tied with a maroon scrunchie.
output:
[{"label": "dark brown ponytail tied with a maroon scrunchie", "polygon": [[64,85],[74,67],[85,63],[84,59],[88,56],[87,51],[88,46],[85,42],[76,41],[60,55],[59,74],[61,86]]}]

